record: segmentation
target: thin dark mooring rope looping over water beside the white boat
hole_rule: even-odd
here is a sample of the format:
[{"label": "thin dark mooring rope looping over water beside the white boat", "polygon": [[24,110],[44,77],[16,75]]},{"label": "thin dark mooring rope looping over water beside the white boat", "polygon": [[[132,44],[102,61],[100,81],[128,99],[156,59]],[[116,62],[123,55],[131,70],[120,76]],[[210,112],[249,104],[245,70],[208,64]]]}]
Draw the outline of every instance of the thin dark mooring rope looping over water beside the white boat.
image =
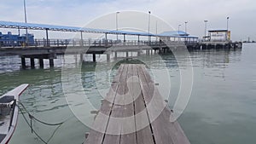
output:
[{"label": "thin dark mooring rope looping over water beside the white boat", "polygon": [[[19,102],[19,103],[20,103],[20,106],[23,107],[23,109],[24,109],[24,110],[26,111],[26,113],[28,114],[28,117],[30,118],[30,124],[29,124],[28,119],[27,119],[26,116],[25,116],[25,113],[22,111],[21,107],[18,105],[18,107],[19,107],[19,109],[20,109],[20,112],[21,112],[23,118],[24,118],[25,121],[26,121],[26,124],[28,124],[28,126],[31,128],[32,133],[34,133],[35,135],[37,135],[37,137],[38,137],[41,141],[43,141],[44,144],[48,144],[48,142],[49,142],[49,141],[53,138],[53,136],[55,135],[55,132],[61,127],[61,124],[65,123],[65,122],[67,121],[67,120],[65,120],[65,121],[63,121],[63,122],[61,122],[61,123],[56,123],[56,124],[46,123],[46,122],[44,122],[44,121],[42,121],[42,120],[39,120],[38,118],[35,118],[34,116],[32,116],[32,114],[30,114],[30,112],[27,111],[26,107],[24,107],[24,105],[23,105],[21,102]],[[48,141],[45,141],[40,135],[38,135],[38,133],[37,133],[35,130],[33,130],[33,128],[32,128],[32,119],[38,121],[38,122],[41,123],[41,124],[45,124],[45,125],[49,125],[49,126],[56,126],[56,125],[58,125],[58,127],[55,129],[55,131],[52,133],[52,135],[50,135]]]}]

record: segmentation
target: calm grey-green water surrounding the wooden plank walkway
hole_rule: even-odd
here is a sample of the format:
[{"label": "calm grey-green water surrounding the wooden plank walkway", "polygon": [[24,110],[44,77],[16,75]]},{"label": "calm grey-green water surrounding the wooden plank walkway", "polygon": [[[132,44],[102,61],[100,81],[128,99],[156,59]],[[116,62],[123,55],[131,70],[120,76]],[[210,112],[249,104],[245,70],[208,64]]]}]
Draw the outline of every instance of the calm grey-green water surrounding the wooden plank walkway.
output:
[{"label": "calm grey-green water surrounding the wooden plank walkway", "polygon": [[[190,51],[194,66],[194,85],[189,105],[178,119],[191,143],[253,143],[256,141],[256,45],[246,44],[243,49],[207,49]],[[175,56],[170,54],[142,55],[143,62],[154,77],[161,77],[161,69],[168,68],[171,88],[160,84],[161,91],[171,89],[169,106],[172,107],[179,90],[179,68],[186,68],[189,59],[179,56],[182,65],[177,66]],[[71,56],[75,62],[75,56]],[[84,133],[89,129],[74,117],[67,106],[61,85],[61,60],[58,57],[55,68],[20,71],[18,56],[0,57],[0,94],[22,83],[31,84],[21,95],[20,101],[39,119],[49,123],[65,121],[49,143],[82,143]],[[160,61],[164,61],[161,63]],[[131,61],[130,61],[131,62]],[[134,62],[134,61],[133,61]],[[75,64],[72,64],[75,66]],[[85,62],[82,65],[81,80],[84,92],[94,107],[101,106],[102,95],[98,90],[108,89],[117,66],[108,70],[108,63],[95,72],[96,65]],[[153,74],[153,73],[151,73]],[[100,76],[99,77],[96,77]],[[97,81],[97,83],[96,83]],[[164,93],[164,92],[163,92]],[[85,112],[86,110],[81,110]],[[94,115],[89,117],[93,118]],[[48,139],[55,127],[34,122],[34,129]],[[10,143],[41,143],[23,118],[19,123]]]}]

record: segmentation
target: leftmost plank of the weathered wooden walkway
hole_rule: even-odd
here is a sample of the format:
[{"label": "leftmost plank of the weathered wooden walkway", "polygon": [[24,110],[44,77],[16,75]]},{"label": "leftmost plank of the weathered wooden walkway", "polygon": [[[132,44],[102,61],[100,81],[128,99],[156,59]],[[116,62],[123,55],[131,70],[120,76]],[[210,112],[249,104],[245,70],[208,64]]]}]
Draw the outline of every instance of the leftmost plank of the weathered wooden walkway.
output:
[{"label": "leftmost plank of the weathered wooden walkway", "polygon": [[[108,119],[106,119],[106,116],[109,117],[111,112],[111,107],[113,106],[113,101],[116,95],[116,91],[119,87],[119,78],[123,71],[124,66],[119,66],[119,70],[115,77],[113,78],[113,82],[111,84],[111,89],[109,89],[108,94],[106,95],[105,101],[102,102],[102,107],[100,109],[100,113],[105,114],[104,115],[97,115],[96,119],[93,124],[93,129],[90,130],[90,134],[88,135],[86,141],[84,143],[86,144],[102,144],[103,137],[105,135],[105,132],[107,130],[107,124]],[[108,101],[106,101],[108,100]]]}]

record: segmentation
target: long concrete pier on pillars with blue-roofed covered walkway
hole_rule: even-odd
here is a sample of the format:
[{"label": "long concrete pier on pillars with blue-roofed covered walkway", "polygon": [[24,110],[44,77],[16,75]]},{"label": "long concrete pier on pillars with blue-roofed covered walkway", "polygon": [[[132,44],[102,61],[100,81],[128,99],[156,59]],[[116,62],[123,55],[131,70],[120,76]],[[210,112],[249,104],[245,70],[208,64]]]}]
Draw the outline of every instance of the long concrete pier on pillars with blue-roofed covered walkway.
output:
[{"label": "long concrete pier on pillars with blue-roofed covered walkway", "polygon": [[[23,22],[1,21],[0,28],[4,29],[26,29],[41,30],[45,32],[44,39],[33,39],[31,34],[27,34],[30,39],[26,40],[25,36],[15,36],[10,38],[0,33],[0,55],[19,55],[22,68],[26,68],[26,59],[30,59],[31,68],[35,68],[35,59],[38,59],[39,66],[44,67],[44,59],[49,60],[49,66],[54,66],[56,55],[74,54],[80,55],[80,60],[84,59],[84,54],[92,55],[92,60],[96,61],[96,55],[110,55],[114,53],[117,58],[118,52],[137,52],[139,56],[143,51],[148,55],[154,52],[167,53],[180,48],[187,49],[236,49],[241,48],[241,43],[232,43],[231,41],[216,43],[212,41],[200,41],[198,37],[190,36],[186,32],[172,31],[152,34],[148,32],[128,32],[112,31],[103,29],[93,29],[74,26],[52,26],[44,24],[33,24]],[[80,39],[49,39],[49,31],[55,32],[79,32]],[[19,31],[20,32],[20,31]],[[84,39],[84,33],[101,33],[105,37],[102,39]],[[10,33],[9,33],[10,34]],[[122,39],[109,39],[109,35],[120,35]],[[11,35],[10,35],[11,36]],[[131,36],[133,39],[127,39]],[[143,38],[144,37],[144,38]],[[143,40],[150,37],[148,40]],[[157,37],[156,40],[153,40]],[[213,37],[213,35],[211,36]],[[147,39],[147,38],[146,38]],[[158,40],[157,40],[158,39]],[[111,49],[109,49],[111,48]]]}]

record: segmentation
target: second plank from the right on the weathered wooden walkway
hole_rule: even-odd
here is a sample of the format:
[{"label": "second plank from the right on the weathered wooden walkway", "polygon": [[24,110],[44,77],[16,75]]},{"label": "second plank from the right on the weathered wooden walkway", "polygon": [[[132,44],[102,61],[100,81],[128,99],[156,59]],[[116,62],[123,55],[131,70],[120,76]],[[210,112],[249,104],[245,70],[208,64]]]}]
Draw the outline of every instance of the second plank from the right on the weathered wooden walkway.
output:
[{"label": "second plank from the right on the weathered wooden walkway", "polygon": [[148,120],[148,112],[143,100],[142,89],[139,84],[137,66],[134,65],[132,70],[133,80],[133,96],[135,99],[135,112],[136,112],[136,128],[137,128],[137,143],[138,144],[154,144],[153,133],[150,128]]}]

